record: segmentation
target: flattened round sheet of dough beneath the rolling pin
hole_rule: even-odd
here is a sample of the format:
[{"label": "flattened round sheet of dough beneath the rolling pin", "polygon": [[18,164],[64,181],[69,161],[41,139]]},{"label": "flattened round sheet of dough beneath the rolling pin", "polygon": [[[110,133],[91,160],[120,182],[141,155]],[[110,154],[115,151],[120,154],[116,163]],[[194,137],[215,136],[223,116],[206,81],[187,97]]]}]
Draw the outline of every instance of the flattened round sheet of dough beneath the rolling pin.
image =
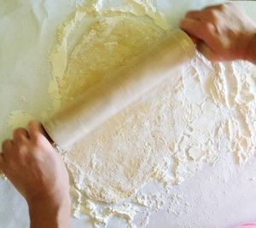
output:
[{"label": "flattened round sheet of dough beneath the rolling pin", "polygon": [[[69,37],[71,29],[79,27],[79,23],[82,23],[82,20],[76,20],[78,14],[88,13],[84,9],[77,12],[73,20],[68,21],[64,28],[61,27],[61,31],[66,31]],[[90,14],[85,15],[85,20],[89,16]],[[59,86],[56,90],[59,91],[58,99],[61,100],[62,107],[86,89],[106,77],[112,77],[116,70],[127,66],[131,60],[148,50],[150,45],[158,42],[166,32],[155,25],[151,18],[143,15],[138,17],[134,14],[112,12],[108,13],[108,16],[98,17],[89,31],[84,30],[81,40],[71,54],[67,54],[70,57],[62,56],[62,62],[67,62],[67,66],[63,65],[64,74],[54,75],[54,80]],[[70,30],[67,30],[72,24]],[[69,37],[61,31],[63,37],[60,37],[59,43],[62,44]],[[61,66],[59,59],[55,62],[55,56],[60,56],[60,53],[65,51],[68,53],[69,43],[67,47],[62,48],[59,43],[51,55],[53,73]],[[116,124],[109,123],[100,132],[94,133],[95,136],[84,138],[64,155],[76,185],[79,185],[79,189],[85,191],[88,197],[102,202],[119,202],[130,197],[148,180],[152,169],[160,162],[157,161],[159,152],[155,147],[160,148],[162,143],[161,140],[154,140],[152,145],[153,141],[149,140],[154,137],[150,136],[150,128],[153,127],[151,123],[156,116],[160,116],[160,110],[155,106],[154,112],[159,113],[154,114],[151,121],[145,122],[148,112],[151,111],[150,105],[152,104],[144,106],[139,112],[130,111],[131,113],[125,113],[124,116],[114,117]],[[172,119],[170,121],[172,122]],[[157,130],[157,126],[154,128]],[[109,129],[112,129],[111,132]],[[154,152],[158,153],[158,156],[153,156]],[[85,170],[87,171],[84,172]],[[102,174],[106,176],[103,177]]]}]

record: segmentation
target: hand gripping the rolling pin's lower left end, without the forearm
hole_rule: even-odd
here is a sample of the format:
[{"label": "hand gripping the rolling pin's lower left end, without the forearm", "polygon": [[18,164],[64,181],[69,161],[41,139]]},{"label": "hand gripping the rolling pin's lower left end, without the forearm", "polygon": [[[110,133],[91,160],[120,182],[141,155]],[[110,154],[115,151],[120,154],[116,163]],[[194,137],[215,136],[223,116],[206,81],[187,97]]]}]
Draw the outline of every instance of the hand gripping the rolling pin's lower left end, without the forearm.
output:
[{"label": "hand gripping the rolling pin's lower left end, without the forearm", "polygon": [[27,130],[15,129],[13,139],[5,140],[2,148],[0,170],[29,205],[69,198],[67,168],[41,123],[29,123]]}]

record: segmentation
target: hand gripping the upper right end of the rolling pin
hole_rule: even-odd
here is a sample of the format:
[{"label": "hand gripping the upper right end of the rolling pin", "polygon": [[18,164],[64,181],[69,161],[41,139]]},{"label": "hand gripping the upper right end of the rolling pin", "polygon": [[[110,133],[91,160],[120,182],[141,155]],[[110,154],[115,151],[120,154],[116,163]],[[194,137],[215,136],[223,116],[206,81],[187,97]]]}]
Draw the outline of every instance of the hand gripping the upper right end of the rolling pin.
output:
[{"label": "hand gripping the upper right end of the rolling pin", "polygon": [[249,60],[251,57],[256,24],[234,3],[189,11],[180,27],[209,60]]}]

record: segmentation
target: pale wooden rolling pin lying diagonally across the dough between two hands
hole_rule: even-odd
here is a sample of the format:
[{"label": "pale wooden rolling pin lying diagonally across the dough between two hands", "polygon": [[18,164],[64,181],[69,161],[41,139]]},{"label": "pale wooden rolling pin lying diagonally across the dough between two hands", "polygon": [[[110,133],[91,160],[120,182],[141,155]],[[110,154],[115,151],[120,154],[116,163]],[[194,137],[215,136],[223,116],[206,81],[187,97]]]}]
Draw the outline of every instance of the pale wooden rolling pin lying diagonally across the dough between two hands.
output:
[{"label": "pale wooden rolling pin lying diagonally across the dough between two hands", "polygon": [[55,144],[66,150],[194,55],[195,44],[189,36],[181,30],[173,31],[131,66],[89,89],[67,109],[56,113],[44,123],[44,128]]}]

